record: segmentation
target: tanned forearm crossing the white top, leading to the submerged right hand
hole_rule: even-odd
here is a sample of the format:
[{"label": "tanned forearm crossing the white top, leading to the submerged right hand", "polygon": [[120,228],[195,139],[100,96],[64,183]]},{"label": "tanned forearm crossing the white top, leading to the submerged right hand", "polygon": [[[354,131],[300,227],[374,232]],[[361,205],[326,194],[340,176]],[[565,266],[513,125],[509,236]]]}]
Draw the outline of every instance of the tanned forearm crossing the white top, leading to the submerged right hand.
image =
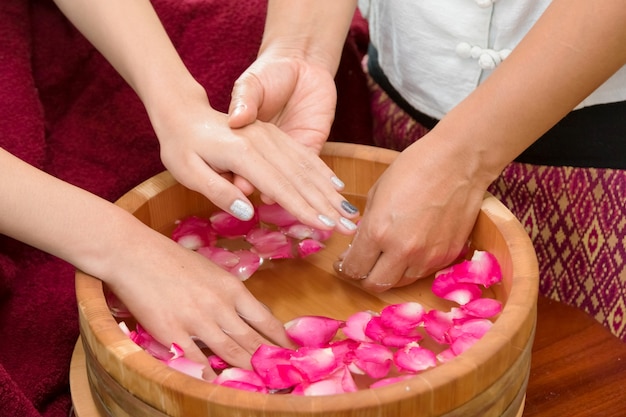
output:
[{"label": "tanned forearm crossing the white top, leading to the submerged right hand", "polygon": [[493,179],[626,63],[626,3],[556,0],[433,133],[478,153]]}]

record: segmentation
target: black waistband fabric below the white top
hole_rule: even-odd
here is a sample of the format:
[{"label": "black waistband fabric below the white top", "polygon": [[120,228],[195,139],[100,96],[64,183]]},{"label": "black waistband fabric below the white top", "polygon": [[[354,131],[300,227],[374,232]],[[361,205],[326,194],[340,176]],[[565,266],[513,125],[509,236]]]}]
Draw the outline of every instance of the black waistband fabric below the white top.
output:
[{"label": "black waistband fabric below the white top", "polygon": [[[413,108],[394,89],[370,45],[368,71],[389,97],[423,126],[438,122]],[[536,165],[626,169],[626,102],[600,104],[570,112],[517,159]]]}]

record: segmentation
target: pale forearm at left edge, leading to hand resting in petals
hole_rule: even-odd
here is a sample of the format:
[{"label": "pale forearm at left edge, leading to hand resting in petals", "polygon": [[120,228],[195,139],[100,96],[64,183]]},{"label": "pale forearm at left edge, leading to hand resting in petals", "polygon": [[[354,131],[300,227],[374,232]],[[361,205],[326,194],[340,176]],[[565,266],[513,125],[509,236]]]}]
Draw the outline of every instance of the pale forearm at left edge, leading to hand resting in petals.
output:
[{"label": "pale forearm at left edge, leading to hand resting in petals", "polygon": [[[0,148],[0,233],[99,277],[149,232],[132,215]],[[135,242],[133,242],[135,239]]]}]

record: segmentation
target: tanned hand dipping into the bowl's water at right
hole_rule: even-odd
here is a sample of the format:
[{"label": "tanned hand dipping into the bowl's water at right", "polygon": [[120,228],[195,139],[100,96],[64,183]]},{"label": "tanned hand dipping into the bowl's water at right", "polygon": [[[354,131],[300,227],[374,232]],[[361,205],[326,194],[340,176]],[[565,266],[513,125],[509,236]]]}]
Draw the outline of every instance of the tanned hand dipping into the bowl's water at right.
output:
[{"label": "tanned hand dipping into the bowl's water at right", "polygon": [[374,184],[335,265],[340,276],[381,292],[429,276],[464,250],[488,184],[477,183],[467,155],[441,142],[415,142]]}]

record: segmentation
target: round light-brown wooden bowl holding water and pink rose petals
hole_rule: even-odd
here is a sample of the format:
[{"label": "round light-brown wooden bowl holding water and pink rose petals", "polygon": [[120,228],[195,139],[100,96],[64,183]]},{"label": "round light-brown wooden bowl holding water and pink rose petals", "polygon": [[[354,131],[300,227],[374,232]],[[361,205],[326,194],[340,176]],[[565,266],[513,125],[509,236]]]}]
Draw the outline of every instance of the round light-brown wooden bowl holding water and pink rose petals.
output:
[{"label": "round light-brown wooden bowl holding water and pink rose petals", "polygon": [[[363,210],[368,190],[397,153],[328,143],[322,155],[346,183],[346,197]],[[168,235],[176,219],[207,216],[216,210],[166,172],[137,186],[117,204]],[[490,290],[491,296],[504,303],[492,329],[452,361],[404,382],[333,396],[250,393],[172,370],[119,329],[108,310],[102,282],[77,272],[81,338],[96,407],[102,416],[116,417],[519,416],[535,331],[535,252],[520,223],[489,195],[471,239],[475,248],[495,254],[503,271],[502,284]],[[432,278],[379,295],[346,284],[337,279],[332,263],[349,239],[335,234],[326,243],[326,249],[305,259],[273,261],[246,284],[283,321],[305,314],[346,319],[357,311],[380,311],[387,304],[409,300],[426,308],[449,307],[430,291]]]}]

